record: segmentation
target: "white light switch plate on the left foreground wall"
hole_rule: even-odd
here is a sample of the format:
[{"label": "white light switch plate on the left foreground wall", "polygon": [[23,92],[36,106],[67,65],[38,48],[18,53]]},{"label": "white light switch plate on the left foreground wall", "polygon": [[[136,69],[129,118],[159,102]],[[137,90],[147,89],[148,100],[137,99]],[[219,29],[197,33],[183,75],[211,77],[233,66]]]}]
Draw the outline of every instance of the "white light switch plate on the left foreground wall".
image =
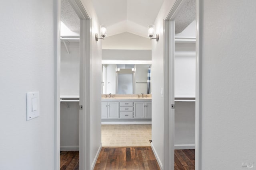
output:
[{"label": "white light switch plate on the left foreground wall", "polygon": [[39,92],[26,93],[27,98],[27,121],[39,116]]}]

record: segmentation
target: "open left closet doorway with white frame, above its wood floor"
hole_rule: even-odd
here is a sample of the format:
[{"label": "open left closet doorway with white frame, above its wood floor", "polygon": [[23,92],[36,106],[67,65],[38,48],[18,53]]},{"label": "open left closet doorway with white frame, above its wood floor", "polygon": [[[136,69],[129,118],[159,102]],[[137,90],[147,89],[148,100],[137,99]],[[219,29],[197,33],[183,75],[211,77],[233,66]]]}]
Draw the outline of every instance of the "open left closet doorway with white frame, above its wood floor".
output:
[{"label": "open left closet doorway with white frame, above its wood floor", "polygon": [[79,150],[77,166],[89,169],[90,19],[80,0],[58,0],[56,11],[55,168],[60,151]]}]

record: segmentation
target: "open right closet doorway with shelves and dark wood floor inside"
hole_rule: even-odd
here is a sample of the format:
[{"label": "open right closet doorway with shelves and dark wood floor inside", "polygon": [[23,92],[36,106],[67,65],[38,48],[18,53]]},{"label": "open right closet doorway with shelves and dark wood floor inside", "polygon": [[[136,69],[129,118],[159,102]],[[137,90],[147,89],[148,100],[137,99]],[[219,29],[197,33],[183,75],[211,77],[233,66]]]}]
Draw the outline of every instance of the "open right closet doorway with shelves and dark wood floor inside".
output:
[{"label": "open right closet doorway with shelves and dark wood floor inside", "polygon": [[[189,17],[188,17],[189,16]],[[165,125],[164,165],[169,169],[195,168],[196,146],[196,1],[179,0],[165,21]],[[170,105],[171,104],[171,105]],[[175,114],[174,114],[175,110]],[[166,143],[168,141],[168,143]],[[175,163],[174,163],[175,162]]]}]

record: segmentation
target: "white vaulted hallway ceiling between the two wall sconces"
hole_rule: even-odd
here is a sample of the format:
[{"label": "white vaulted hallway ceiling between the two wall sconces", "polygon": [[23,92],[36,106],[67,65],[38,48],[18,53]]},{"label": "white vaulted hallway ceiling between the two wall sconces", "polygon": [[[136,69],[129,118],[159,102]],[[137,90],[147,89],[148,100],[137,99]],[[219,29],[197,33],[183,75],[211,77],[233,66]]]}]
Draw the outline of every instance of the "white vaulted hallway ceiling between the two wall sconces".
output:
[{"label": "white vaulted hallway ceiling between the two wall sconces", "polygon": [[147,37],[147,27],[154,24],[164,0],[92,0],[108,36],[130,32]]}]

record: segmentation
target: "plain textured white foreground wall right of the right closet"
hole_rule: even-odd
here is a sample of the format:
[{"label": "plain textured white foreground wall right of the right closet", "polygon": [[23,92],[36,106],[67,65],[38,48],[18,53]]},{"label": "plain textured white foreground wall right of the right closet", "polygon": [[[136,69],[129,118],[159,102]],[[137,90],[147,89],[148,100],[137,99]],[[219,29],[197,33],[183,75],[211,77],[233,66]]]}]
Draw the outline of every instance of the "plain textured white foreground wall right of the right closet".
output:
[{"label": "plain textured white foreground wall right of the right closet", "polygon": [[244,169],[256,162],[256,1],[203,2],[202,169]]}]

